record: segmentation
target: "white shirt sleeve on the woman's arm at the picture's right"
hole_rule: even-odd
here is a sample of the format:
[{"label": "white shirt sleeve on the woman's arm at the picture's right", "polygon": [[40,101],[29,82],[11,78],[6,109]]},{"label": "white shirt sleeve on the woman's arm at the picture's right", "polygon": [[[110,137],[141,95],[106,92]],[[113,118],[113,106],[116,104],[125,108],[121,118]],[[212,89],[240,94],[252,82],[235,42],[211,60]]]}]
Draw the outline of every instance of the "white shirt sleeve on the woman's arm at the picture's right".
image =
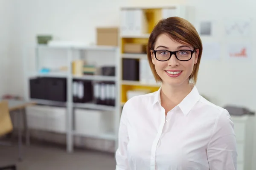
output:
[{"label": "white shirt sleeve on the woman's arm at the picture's right", "polygon": [[215,122],[212,137],[207,147],[209,170],[236,170],[237,149],[234,124],[224,110]]}]

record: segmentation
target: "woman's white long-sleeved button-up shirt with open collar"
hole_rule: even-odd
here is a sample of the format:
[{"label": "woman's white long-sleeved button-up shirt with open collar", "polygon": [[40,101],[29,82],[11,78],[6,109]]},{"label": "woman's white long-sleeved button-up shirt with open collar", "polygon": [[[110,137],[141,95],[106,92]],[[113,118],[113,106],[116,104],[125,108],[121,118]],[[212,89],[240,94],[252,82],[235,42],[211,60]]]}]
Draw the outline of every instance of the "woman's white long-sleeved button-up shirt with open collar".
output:
[{"label": "woman's white long-sleeved button-up shirt with open collar", "polygon": [[208,102],[194,86],[165,116],[160,90],[125,103],[116,170],[236,170],[228,111]]}]

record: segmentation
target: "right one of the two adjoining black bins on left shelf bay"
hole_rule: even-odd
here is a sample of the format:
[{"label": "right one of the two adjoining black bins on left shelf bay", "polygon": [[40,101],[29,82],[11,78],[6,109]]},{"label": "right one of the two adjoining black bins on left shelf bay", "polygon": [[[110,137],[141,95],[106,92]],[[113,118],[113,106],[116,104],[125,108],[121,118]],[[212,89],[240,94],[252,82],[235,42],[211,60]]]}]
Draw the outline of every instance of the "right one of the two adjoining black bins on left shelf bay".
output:
[{"label": "right one of the two adjoining black bins on left shelf bay", "polygon": [[46,78],[47,99],[58,102],[67,101],[67,79]]}]

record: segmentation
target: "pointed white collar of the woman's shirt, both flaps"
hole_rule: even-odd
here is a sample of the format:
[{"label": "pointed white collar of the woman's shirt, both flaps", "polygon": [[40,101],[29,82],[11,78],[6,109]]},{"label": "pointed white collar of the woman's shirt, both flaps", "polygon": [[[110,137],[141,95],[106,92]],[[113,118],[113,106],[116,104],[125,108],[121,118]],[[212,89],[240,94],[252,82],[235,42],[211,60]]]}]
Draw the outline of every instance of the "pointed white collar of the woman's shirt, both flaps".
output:
[{"label": "pointed white collar of the woman's shirt, both flaps", "polygon": [[[157,102],[161,105],[161,99],[160,99],[161,87],[154,94],[153,105],[156,104]],[[199,99],[200,99],[200,94],[198,92],[198,89],[194,85],[192,91],[180,102],[180,104],[178,104],[178,107],[186,116],[189,113],[189,111],[194,107],[194,105],[198,102]]]}]

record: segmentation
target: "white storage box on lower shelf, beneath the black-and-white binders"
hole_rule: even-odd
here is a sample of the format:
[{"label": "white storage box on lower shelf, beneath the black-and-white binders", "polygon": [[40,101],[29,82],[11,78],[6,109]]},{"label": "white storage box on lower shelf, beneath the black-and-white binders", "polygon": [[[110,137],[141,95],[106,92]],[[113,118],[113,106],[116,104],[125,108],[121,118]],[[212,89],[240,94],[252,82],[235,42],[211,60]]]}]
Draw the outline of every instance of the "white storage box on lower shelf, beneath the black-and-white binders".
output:
[{"label": "white storage box on lower shelf, beneath the black-and-white binders", "polygon": [[113,132],[113,112],[89,109],[75,110],[75,131],[85,135]]}]

